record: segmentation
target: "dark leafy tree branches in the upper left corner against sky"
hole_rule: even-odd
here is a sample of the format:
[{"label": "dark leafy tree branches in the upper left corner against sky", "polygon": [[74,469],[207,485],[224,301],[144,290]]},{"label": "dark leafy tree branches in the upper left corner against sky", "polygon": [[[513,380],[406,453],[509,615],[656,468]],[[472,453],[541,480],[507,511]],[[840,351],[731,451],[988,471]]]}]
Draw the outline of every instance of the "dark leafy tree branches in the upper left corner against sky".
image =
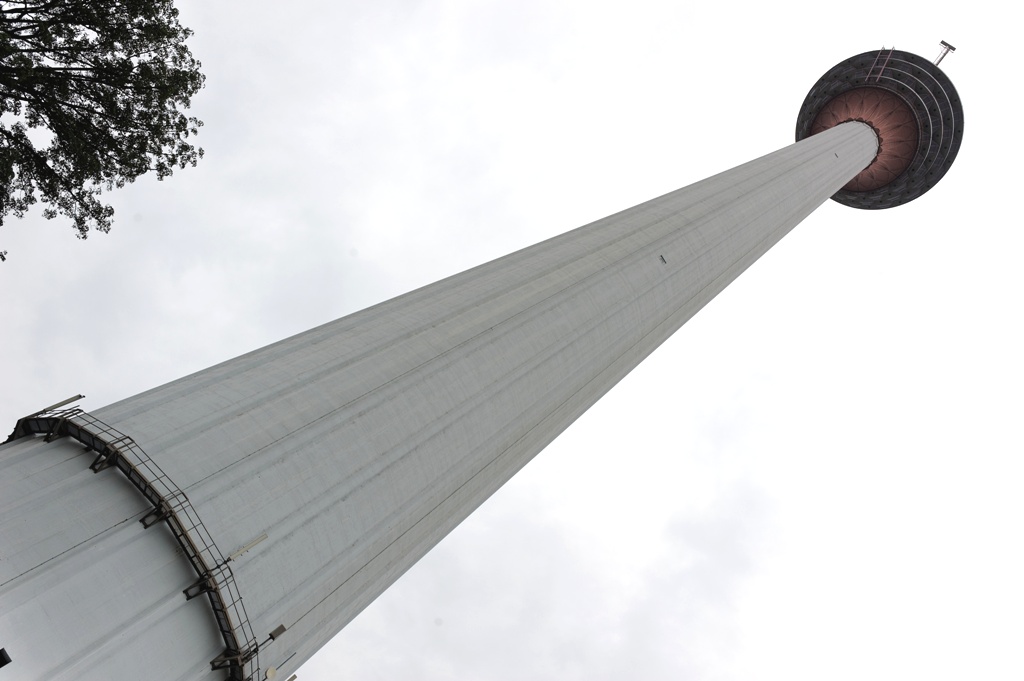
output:
[{"label": "dark leafy tree branches in the upper left corner against sky", "polygon": [[41,200],[80,239],[110,231],[104,189],[196,165],[191,33],[172,0],[0,1],[0,225]]}]

